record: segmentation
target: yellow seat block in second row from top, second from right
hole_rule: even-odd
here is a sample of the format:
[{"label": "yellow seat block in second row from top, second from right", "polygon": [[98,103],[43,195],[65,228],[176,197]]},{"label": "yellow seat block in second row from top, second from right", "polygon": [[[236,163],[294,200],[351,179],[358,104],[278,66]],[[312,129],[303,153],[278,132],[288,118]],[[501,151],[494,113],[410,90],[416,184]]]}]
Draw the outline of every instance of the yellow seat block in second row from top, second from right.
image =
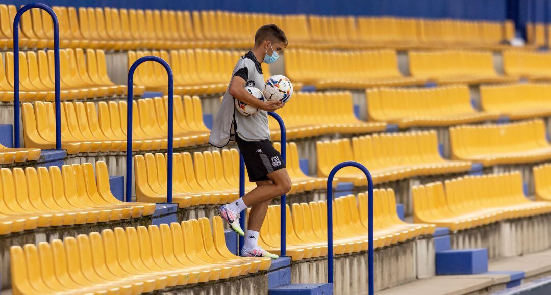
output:
[{"label": "yellow seat block in second row from top, second from right", "polygon": [[493,53],[490,51],[413,51],[408,52],[409,73],[416,78],[437,83],[497,83],[516,81],[504,77],[494,69]]}]

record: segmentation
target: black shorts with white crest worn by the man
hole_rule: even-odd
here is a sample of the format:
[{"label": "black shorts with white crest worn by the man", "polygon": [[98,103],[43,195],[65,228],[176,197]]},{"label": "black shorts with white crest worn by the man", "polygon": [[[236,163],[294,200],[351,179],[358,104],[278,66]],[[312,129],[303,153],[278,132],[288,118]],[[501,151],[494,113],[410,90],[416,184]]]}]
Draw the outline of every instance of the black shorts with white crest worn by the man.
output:
[{"label": "black shorts with white crest worn by the man", "polygon": [[285,168],[285,163],[281,159],[281,154],[274,149],[272,141],[246,141],[235,135],[235,141],[239,146],[239,151],[245,160],[247,172],[249,172],[249,181],[269,181],[266,176],[281,168]]}]

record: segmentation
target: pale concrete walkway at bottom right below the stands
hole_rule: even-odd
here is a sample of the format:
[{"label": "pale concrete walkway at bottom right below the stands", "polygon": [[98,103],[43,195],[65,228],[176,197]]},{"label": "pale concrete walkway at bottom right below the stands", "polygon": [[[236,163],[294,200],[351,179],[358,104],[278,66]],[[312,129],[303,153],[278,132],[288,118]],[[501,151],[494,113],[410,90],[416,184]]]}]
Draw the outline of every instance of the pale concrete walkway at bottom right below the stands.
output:
[{"label": "pale concrete walkway at bottom right below the stands", "polygon": [[413,281],[395,288],[376,292],[376,294],[488,294],[505,288],[505,284],[510,281],[509,274],[500,274],[499,272],[523,271],[525,272],[523,283],[551,272],[551,250],[490,261],[488,271],[487,273],[478,275],[435,276],[425,278],[423,280]]}]

